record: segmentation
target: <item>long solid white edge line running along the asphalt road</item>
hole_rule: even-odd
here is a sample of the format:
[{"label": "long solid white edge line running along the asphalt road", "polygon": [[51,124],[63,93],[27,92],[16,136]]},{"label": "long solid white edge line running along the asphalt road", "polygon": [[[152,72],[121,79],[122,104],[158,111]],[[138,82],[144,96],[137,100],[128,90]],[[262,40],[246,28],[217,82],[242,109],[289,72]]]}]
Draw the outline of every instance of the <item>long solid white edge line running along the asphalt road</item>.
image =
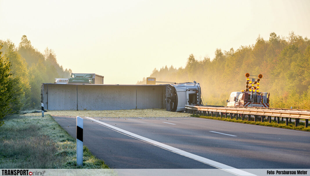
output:
[{"label": "long solid white edge line running along the asphalt road", "polygon": [[179,155],[183,155],[183,156],[185,156],[185,157],[192,158],[192,159],[194,159],[194,160],[196,160],[196,161],[200,161],[200,162],[205,163],[205,164],[207,164],[207,165],[211,165],[211,166],[213,166],[213,167],[216,167],[216,168],[222,169],[222,170],[224,170],[224,171],[227,171],[227,172],[229,172],[229,173],[237,174],[237,175],[241,175],[241,176],[254,176],[254,174],[251,174],[251,173],[246,172],[246,171],[244,171],[244,170],[240,170],[240,169],[234,168],[234,167],[232,167],[232,166],[225,165],[225,164],[219,163],[219,162],[217,162],[217,161],[213,161],[213,160],[210,160],[210,159],[208,159],[208,158],[204,158],[204,157],[195,155],[195,154],[193,154],[193,153],[189,153],[189,152],[186,152],[186,151],[184,151],[184,150],[180,150],[180,149],[178,149],[178,148],[174,148],[174,147],[172,147],[172,146],[170,146],[170,145],[166,145],[166,144],[157,142],[157,141],[155,141],[155,140],[148,139],[148,138],[146,138],[146,137],[137,135],[137,134],[135,134],[135,133],[131,133],[131,132],[126,131],[126,130],[123,130],[123,129],[121,129],[121,128],[117,128],[117,127],[114,127],[114,126],[109,125],[109,124],[107,124],[107,123],[101,122],[101,121],[96,120],[96,119],[94,119],[94,118],[90,118],[90,117],[85,117],[85,118],[87,118],[88,120],[90,120],[90,121],[92,121],[92,122],[99,123],[99,124],[101,124],[102,126],[108,127],[108,128],[110,128],[110,129],[112,129],[112,130],[118,131],[118,132],[120,132],[120,133],[122,133],[122,134],[129,135],[129,136],[131,136],[131,137],[133,137],[133,138],[136,138],[136,139],[139,139],[139,140],[143,140],[143,141],[145,141],[145,142],[147,142],[147,143],[149,143],[149,144],[153,144],[153,145],[155,145],[155,146],[157,146],[157,147],[164,148],[164,149],[169,150],[169,151],[171,151],[171,152],[175,152],[175,153],[177,153],[177,154],[179,154]]}]

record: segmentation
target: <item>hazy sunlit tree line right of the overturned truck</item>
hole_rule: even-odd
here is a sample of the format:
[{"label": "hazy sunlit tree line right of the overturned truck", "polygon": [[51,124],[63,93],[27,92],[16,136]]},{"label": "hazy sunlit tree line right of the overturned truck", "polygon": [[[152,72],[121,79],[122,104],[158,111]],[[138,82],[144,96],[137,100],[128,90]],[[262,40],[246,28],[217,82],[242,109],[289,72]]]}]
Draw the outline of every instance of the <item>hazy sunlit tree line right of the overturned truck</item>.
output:
[{"label": "hazy sunlit tree line right of the overturned truck", "polygon": [[[227,105],[231,92],[245,90],[246,77],[262,74],[261,92],[270,92],[270,107],[310,109],[310,40],[290,32],[287,37],[270,33],[254,45],[229,51],[216,49],[211,60],[197,60],[190,54],[185,68],[156,68],[149,77],[158,81],[201,84],[206,105]],[[146,84],[146,79],[137,84]]]}]

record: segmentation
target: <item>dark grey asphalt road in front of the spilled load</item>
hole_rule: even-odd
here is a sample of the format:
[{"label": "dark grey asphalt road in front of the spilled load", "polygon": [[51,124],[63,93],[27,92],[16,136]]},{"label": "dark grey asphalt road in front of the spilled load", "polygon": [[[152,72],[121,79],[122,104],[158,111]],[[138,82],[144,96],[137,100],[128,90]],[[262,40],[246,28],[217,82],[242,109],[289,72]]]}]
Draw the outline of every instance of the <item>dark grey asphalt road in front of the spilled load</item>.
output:
[{"label": "dark grey asphalt road in front of the spilled load", "polygon": [[[76,136],[76,118],[54,118]],[[94,119],[84,118],[83,142],[110,168],[310,168],[310,133],[305,131],[203,118]]]}]

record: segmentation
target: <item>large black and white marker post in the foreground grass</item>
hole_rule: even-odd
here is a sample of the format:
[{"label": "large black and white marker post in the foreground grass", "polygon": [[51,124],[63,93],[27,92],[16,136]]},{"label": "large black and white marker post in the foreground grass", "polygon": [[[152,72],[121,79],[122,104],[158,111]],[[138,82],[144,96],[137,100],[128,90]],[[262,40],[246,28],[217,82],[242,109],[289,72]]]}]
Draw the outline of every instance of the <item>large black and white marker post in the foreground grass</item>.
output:
[{"label": "large black and white marker post in the foreground grass", "polygon": [[83,118],[77,116],[77,166],[83,166]]}]

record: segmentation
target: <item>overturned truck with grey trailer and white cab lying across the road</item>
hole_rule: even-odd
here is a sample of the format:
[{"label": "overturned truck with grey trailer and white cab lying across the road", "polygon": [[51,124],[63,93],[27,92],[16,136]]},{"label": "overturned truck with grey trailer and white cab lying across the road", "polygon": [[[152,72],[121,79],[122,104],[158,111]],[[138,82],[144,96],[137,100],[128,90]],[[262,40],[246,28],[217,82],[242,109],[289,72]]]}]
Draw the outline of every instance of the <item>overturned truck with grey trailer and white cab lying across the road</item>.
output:
[{"label": "overturned truck with grey trailer and white cab lying across the road", "polygon": [[41,100],[49,110],[166,109],[184,111],[201,104],[196,82],[159,85],[43,83]]}]

